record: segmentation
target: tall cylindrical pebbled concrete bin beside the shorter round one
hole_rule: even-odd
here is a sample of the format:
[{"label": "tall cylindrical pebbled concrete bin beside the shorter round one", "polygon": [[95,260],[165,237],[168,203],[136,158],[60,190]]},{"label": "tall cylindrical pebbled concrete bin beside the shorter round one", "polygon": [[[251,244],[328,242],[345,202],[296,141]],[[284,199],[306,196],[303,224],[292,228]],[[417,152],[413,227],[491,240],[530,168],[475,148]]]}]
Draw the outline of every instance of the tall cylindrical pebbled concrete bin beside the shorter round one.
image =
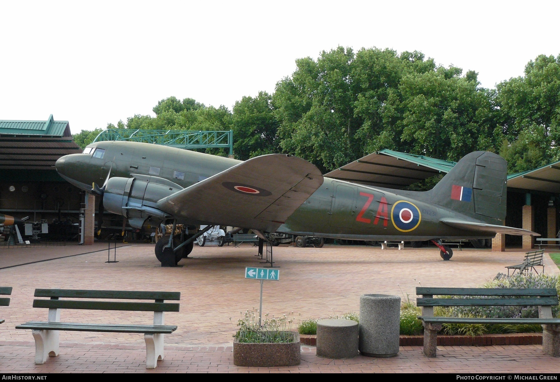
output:
[{"label": "tall cylindrical pebbled concrete bin beside the shorter round one", "polygon": [[396,356],[399,353],[399,330],[399,296],[360,296],[360,353],[370,357]]}]

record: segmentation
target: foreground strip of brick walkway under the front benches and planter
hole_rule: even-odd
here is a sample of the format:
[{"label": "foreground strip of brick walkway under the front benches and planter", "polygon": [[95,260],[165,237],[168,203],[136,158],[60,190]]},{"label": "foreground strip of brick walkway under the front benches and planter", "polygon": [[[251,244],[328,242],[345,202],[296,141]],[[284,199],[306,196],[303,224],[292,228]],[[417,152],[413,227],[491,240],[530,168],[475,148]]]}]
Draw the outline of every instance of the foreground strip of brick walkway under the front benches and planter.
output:
[{"label": "foreground strip of brick walkway under the front benches and planter", "polygon": [[558,358],[543,354],[536,345],[459,347],[438,346],[438,357],[427,358],[419,346],[400,348],[393,358],[358,356],[330,360],[302,347],[301,364],[290,367],[234,365],[231,346],[167,346],[165,360],[146,370],[141,346],[66,344],[58,357],[44,365],[33,363],[34,347],[0,346],[2,372],[560,372]]}]

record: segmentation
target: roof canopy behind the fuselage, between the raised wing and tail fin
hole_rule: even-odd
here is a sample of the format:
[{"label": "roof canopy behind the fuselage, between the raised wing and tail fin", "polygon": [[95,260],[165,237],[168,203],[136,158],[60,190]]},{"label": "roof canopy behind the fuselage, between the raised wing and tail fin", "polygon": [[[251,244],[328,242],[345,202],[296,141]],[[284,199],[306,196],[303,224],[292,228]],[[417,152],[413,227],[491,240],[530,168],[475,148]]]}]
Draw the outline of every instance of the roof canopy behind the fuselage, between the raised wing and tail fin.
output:
[{"label": "roof canopy behind the fuselage, between the raised wing and tail fin", "polygon": [[404,188],[430,176],[449,173],[456,162],[380,150],[324,174],[328,178],[377,187]]}]

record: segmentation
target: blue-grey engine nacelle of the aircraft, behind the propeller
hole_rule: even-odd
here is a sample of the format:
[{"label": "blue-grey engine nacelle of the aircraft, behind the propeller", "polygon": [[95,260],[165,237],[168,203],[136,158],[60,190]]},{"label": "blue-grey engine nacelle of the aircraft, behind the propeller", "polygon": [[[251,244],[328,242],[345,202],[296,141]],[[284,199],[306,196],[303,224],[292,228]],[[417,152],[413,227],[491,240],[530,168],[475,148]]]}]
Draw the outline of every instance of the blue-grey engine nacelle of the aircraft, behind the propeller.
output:
[{"label": "blue-grey engine nacelle of the aircraft, behind the propeller", "polygon": [[161,220],[171,216],[157,208],[161,198],[182,190],[178,184],[158,176],[132,174],[132,178],[110,178],[103,194],[103,206],[109,212],[122,215],[131,226],[140,228],[155,216]]}]

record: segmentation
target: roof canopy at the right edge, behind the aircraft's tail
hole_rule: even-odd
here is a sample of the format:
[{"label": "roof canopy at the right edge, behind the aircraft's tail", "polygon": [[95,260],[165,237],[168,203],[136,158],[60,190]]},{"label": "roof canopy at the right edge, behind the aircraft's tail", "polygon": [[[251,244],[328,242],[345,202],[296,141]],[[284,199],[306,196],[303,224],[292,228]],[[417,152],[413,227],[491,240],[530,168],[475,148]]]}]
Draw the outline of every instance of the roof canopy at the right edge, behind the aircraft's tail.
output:
[{"label": "roof canopy at the right edge, behind the aircraft's tail", "polygon": [[507,176],[507,187],[560,193],[560,161]]}]

